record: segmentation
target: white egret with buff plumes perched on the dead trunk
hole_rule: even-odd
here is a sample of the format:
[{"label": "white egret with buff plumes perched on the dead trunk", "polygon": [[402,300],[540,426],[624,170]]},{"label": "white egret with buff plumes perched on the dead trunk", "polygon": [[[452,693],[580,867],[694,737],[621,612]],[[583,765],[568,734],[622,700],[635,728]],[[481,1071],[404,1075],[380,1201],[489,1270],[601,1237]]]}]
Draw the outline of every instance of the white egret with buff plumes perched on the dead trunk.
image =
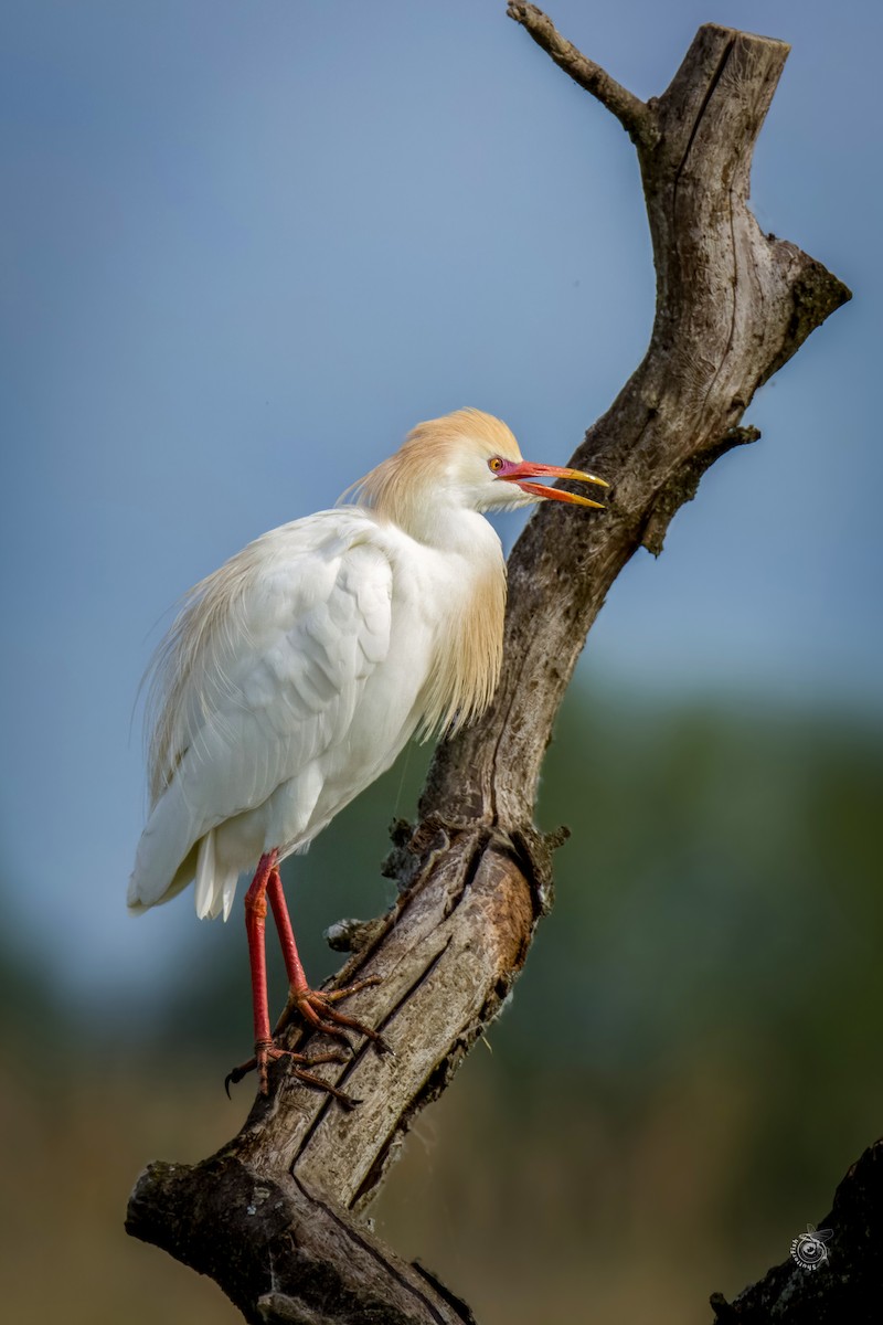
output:
[{"label": "white egret with buff plumes perched on the dead trunk", "polygon": [[[245,900],[256,1049],[234,1080],[257,1067],[266,1093],[267,1065],[285,1052],[274,1034],[295,1010],[328,1034],[353,1027],[379,1040],[332,1006],[364,982],[310,988],[278,867],[414,733],[450,734],[487,708],[506,566],[482,511],[543,497],[600,505],[531,481],[556,477],[606,486],[522,460],[504,423],[458,409],[418,424],[344,493],[347,505],[270,530],[187,595],[154,666],[151,814],[128,905],[144,910],[195,881],[197,916],[226,920],[240,874],[258,863]],[[267,898],[290,982],[274,1034]]]}]

